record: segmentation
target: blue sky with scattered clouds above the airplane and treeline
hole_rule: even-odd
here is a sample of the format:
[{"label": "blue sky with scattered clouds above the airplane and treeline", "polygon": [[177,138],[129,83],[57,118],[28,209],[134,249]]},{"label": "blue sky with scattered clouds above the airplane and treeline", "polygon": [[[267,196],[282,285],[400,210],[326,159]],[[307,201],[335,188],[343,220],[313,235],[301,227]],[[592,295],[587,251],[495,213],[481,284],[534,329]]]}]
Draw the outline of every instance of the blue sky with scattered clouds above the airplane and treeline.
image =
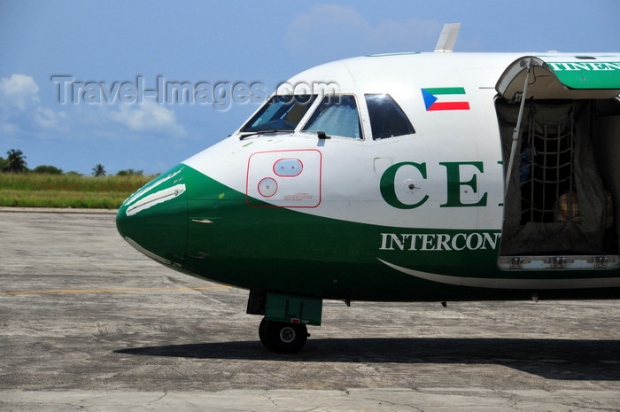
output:
[{"label": "blue sky with scattered clouds above the airplane and treeline", "polygon": [[[0,156],[19,149],[28,167],[85,175],[97,163],[109,174],[164,172],[228,136],[258,97],[311,66],[432,51],[452,22],[462,25],[455,51],[617,52],[618,18],[618,0],[0,0]],[[138,102],[131,88],[139,82],[147,90],[188,82],[204,86],[205,96],[193,104]],[[101,86],[85,95],[94,83]],[[213,89],[233,84],[265,91],[255,101],[209,104]],[[65,104],[62,86],[70,91]]]}]

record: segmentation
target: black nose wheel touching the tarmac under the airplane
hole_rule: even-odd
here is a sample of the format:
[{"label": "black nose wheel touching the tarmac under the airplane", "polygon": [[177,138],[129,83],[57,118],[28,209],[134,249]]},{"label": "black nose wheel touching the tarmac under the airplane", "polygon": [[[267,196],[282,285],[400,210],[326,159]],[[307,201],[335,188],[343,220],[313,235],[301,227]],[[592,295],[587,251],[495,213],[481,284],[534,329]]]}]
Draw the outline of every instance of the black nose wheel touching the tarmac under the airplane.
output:
[{"label": "black nose wheel touching the tarmac under the airplane", "polygon": [[305,324],[267,321],[263,318],[259,326],[260,342],[267,349],[279,354],[298,352],[308,339]]}]

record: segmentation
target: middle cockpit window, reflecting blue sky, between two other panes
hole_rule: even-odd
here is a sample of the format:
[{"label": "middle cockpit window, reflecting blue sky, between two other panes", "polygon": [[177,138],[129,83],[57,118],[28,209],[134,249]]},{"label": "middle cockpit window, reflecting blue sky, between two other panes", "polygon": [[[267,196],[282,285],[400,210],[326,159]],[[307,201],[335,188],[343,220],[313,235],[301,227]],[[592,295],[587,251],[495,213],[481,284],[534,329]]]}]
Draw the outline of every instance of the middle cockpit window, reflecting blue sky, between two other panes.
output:
[{"label": "middle cockpit window, reflecting blue sky, between two other panes", "polygon": [[353,95],[326,96],[303,131],[361,139],[360,115]]}]

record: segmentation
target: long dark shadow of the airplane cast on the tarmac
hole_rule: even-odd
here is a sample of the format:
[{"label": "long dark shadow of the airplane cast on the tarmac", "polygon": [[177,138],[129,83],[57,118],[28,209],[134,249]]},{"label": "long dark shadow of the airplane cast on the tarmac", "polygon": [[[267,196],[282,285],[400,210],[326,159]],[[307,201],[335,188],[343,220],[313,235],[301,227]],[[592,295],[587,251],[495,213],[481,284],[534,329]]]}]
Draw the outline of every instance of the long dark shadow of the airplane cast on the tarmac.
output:
[{"label": "long dark shadow of the airplane cast on the tarmac", "polygon": [[256,361],[498,364],[560,380],[620,380],[620,340],[532,338],[309,339],[298,354],[259,341],[122,349],[117,354]]}]

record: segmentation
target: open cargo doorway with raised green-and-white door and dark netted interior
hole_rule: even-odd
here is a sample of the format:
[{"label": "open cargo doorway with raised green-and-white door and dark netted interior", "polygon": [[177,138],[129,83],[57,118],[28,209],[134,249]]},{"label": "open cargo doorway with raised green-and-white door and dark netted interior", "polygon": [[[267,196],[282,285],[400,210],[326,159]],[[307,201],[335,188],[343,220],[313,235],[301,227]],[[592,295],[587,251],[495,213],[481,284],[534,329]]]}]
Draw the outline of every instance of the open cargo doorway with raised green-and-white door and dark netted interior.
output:
[{"label": "open cargo doorway with raised green-and-white door and dark netted interior", "polygon": [[495,89],[500,268],[619,267],[620,55],[524,56]]}]

